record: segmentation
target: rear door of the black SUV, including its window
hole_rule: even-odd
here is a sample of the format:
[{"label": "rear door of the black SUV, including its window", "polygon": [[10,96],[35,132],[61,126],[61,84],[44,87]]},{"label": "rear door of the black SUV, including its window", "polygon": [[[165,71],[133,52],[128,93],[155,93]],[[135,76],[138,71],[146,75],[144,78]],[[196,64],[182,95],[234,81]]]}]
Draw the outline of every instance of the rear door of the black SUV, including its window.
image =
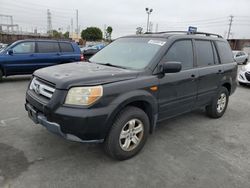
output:
[{"label": "rear door of the black SUV, including its window", "polygon": [[195,49],[199,71],[197,105],[203,106],[217,93],[224,69],[212,41],[195,40]]}]

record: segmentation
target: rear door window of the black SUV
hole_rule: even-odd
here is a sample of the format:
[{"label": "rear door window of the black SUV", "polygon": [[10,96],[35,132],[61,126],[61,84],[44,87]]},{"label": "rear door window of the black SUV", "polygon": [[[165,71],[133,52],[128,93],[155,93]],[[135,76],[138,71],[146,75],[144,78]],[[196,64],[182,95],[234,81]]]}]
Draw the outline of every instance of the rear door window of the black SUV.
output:
[{"label": "rear door window of the black SUV", "polygon": [[198,67],[214,64],[214,52],[212,43],[206,40],[195,40]]}]

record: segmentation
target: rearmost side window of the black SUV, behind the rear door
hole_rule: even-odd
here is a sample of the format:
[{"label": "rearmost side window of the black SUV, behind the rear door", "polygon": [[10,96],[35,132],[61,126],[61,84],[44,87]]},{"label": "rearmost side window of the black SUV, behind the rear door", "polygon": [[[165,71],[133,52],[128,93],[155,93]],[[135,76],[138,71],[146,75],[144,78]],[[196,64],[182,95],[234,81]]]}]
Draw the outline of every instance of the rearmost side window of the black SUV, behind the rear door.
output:
[{"label": "rearmost side window of the black SUV, behind the rear door", "polygon": [[232,63],[233,53],[227,42],[216,41],[221,63]]}]

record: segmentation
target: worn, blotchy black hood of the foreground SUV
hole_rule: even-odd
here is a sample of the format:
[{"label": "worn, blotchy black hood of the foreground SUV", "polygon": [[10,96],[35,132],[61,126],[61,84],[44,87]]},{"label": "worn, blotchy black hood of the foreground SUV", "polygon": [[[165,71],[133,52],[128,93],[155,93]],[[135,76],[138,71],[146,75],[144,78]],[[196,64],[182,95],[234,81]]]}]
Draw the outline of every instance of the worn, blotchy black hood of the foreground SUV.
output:
[{"label": "worn, blotchy black hood of the foreground SUV", "polygon": [[39,69],[34,75],[55,84],[57,89],[68,89],[72,86],[99,85],[134,79],[138,71],[76,62]]}]

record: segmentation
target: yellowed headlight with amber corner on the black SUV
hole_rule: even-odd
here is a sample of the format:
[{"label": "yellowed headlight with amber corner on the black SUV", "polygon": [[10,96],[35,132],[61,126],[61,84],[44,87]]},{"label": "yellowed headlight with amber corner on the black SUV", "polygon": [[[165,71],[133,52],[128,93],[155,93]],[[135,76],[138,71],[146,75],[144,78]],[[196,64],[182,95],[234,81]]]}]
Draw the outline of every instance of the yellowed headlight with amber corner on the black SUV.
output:
[{"label": "yellowed headlight with amber corner on the black SUV", "polygon": [[65,104],[87,106],[102,97],[102,86],[73,87],[69,90]]}]

